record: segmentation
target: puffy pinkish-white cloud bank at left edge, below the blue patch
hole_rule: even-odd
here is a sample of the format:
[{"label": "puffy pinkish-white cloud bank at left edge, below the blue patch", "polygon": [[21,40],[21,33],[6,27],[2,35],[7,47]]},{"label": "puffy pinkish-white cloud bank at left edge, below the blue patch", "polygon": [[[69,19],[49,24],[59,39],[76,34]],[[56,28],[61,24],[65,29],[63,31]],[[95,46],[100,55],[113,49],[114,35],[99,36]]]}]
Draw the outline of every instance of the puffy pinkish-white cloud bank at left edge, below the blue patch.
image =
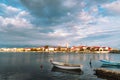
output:
[{"label": "puffy pinkish-white cloud bank at left edge, below the blue patch", "polygon": [[3,18],[0,16],[0,27],[2,29],[6,29],[6,28],[31,28],[32,24],[27,21],[25,18],[20,18],[20,17],[13,17],[13,18]]}]

